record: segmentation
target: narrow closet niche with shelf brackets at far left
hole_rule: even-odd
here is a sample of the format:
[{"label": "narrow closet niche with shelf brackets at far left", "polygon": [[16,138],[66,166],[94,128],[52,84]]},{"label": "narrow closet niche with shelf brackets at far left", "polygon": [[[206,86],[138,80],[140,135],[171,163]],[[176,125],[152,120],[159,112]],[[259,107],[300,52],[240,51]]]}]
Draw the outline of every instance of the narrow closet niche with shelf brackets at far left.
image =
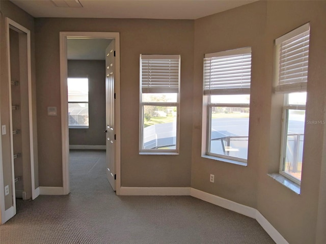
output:
[{"label": "narrow closet niche with shelf brackets at far left", "polygon": [[32,197],[26,34],[11,27],[9,29],[9,40],[10,133],[14,165],[14,189],[16,198],[26,200]]}]

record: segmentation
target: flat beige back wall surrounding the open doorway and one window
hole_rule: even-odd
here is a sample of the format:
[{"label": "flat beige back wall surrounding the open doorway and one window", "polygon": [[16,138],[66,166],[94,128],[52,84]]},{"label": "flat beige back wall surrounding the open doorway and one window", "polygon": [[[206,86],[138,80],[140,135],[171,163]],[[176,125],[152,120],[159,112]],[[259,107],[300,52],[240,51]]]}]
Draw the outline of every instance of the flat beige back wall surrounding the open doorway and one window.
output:
[{"label": "flat beige back wall surrounding the open doorway and one window", "polygon": [[[191,177],[194,21],[36,19],[40,185],[62,186],[59,32],[119,32],[121,182],[126,187],[189,187]],[[181,54],[180,155],[139,155],[139,55]],[[57,106],[58,116],[46,115]]]}]

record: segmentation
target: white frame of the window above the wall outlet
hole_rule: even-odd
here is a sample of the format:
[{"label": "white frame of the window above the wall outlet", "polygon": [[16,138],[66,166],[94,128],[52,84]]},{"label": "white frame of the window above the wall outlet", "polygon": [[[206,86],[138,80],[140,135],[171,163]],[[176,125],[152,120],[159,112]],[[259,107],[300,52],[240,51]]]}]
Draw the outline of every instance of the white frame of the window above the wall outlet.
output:
[{"label": "white frame of the window above the wall outlet", "polygon": [[[207,53],[205,54],[205,58],[214,58],[214,57],[223,57],[223,56],[233,56],[233,55],[246,55],[250,53],[250,66],[252,64],[252,49],[251,47],[245,47],[240,49],[233,49],[228,51],[222,52],[215,52],[215,53]],[[251,69],[251,68],[250,68]],[[251,71],[250,71],[250,83],[251,83]],[[249,103],[212,103],[211,96],[213,95],[249,95],[250,96],[250,85],[248,87],[244,87],[240,90],[230,90],[228,88],[225,89],[225,93],[219,92],[219,94],[211,94],[210,91],[205,90],[205,59],[204,59],[204,72],[203,72],[203,131],[202,131],[202,157],[211,158],[215,160],[222,160],[229,163],[234,163],[238,165],[247,166],[247,159],[237,158],[228,155],[222,154],[215,154],[211,153],[211,120],[212,120],[212,108],[213,107],[241,107],[241,108],[249,108],[250,109],[250,102]],[[205,108],[206,107],[206,108]],[[249,119],[250,123],[250,119]],[[249,127],[249,125],[248,125]],[[249,129],[249,128],[248,128]],[[249,148],[249,134],[248,134],[248,148]],[[248,150],[247,148],[247,150]],[[248,150],[249,151],[249,150]]]}]

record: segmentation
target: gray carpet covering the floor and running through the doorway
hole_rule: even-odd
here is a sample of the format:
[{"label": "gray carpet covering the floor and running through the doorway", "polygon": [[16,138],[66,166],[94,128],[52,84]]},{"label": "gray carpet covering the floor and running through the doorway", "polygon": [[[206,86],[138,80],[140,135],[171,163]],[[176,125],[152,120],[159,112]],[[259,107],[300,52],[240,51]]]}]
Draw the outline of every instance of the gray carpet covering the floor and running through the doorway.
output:
[{"label": "gray carpet covering the floor and running through the doorway", "polygon": [[17,199],[1,243],[275,243],[251,218],[190,196],[116,196],[105,151],[70,151],[71,193]]}]

